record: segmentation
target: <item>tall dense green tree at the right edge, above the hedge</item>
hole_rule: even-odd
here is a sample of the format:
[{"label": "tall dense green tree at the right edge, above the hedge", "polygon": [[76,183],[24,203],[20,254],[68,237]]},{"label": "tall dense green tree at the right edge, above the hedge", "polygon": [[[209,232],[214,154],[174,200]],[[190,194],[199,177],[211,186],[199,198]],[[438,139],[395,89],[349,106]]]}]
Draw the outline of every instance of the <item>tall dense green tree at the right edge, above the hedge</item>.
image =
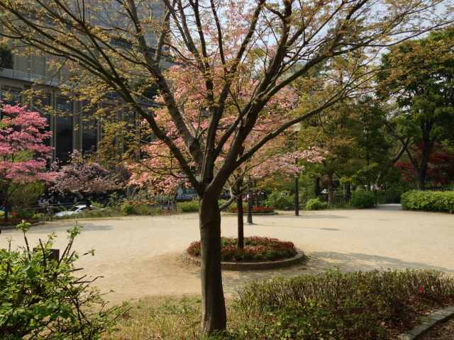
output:
[{"label": "tall dense green tree at the right edge, above the hedge", "polygon": [[[454,128],[454,28],[392,47],[382,58],[378,94],[392,99],[388,120],[416,174],[426,186],[428,159]],[[421,155],[417,155],[421,152]]]}]

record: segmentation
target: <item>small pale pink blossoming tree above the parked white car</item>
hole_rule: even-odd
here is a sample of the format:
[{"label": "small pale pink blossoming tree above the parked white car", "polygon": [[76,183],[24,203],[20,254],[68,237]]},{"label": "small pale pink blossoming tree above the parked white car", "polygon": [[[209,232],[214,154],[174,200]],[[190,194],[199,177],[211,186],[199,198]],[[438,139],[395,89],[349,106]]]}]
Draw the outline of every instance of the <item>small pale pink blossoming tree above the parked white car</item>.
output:
[{"label": "small pale pink blossoming tree above the parked white car", "polygon": [[89,203],[93,195],[119,188],[121,181],[114,172],[86,159],[81,152],[74,151],[70,155],[70,162],[56,172],[55,184],[50,189],[61,195],[72,194]]}]

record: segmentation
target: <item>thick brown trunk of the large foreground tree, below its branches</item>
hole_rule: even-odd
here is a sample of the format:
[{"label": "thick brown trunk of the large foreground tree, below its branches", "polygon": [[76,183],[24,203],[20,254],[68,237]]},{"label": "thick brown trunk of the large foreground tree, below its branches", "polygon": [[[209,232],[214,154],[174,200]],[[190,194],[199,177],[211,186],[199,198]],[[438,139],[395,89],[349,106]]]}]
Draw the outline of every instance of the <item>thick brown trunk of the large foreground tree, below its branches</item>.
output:
[{"label": "thick brown trunk of the large foreground tree, below its branches", "polygon": [[221,275],[221,211],[218,197],[205,195],[199,210],[201,239],[202,329],[204,334],[226,329],[226,302]]}]

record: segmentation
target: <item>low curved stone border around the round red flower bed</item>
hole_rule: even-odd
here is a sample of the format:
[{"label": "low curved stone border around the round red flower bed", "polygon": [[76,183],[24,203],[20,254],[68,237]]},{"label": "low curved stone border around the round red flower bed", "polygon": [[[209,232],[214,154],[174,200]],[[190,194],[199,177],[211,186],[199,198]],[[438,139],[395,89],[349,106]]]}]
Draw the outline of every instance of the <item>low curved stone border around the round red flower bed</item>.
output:
[{"label": "low curved stone border around the round red flower bed", "polygon": [[[267,269],[276,269],[292,266],[306,259],[304,252],[297,249],[297,255],[289,259],[281,259],[277,261],[261,261],[261,262],[221,262],[221,268],[225,271],[263,271]],[[200,259],[190,255],[184,251],[183,261],[194,263],[200,266]]]}]

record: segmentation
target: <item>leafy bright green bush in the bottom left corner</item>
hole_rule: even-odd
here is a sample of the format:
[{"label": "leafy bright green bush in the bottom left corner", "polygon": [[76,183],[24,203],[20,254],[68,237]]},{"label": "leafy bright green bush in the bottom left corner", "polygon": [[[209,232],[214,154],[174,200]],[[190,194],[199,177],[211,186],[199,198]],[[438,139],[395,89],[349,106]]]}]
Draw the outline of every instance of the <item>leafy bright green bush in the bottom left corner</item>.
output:
[{"label": "leafy bright green bush in the bottom left corner", "polygon": [[0,250],[0,334],[2,340],[95,340],[109,329],[123,307],[106,309],[94,280],[77,277],[72,251],[79,228],[70,230],[60,261],[50,256],[52,240],[31,249],[26,237],[30,225],[19,225],[25,248]]}]

